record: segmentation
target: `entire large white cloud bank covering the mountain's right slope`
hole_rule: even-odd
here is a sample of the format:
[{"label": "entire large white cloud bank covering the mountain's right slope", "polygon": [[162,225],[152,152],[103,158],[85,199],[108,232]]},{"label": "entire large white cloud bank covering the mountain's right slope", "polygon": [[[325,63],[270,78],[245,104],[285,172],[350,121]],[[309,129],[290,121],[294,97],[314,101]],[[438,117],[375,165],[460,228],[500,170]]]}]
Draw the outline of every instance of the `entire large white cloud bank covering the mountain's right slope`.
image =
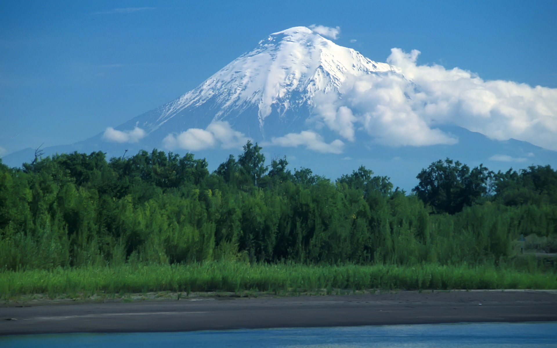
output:
[{"label": "entire large white cloud bank covering the mountain's right slope", "polygon": [[326,126],[349,142],[367,133],[383,145],[451,145],[458,140],[437,127],[457,125],[491,139],[514,138],[557,150],[557,89],[417,65],[419,53],[393,48],[387,62],[403,75],[347,79],[341,96],[330,92],[315,99],[309,123],[316,129]]}]

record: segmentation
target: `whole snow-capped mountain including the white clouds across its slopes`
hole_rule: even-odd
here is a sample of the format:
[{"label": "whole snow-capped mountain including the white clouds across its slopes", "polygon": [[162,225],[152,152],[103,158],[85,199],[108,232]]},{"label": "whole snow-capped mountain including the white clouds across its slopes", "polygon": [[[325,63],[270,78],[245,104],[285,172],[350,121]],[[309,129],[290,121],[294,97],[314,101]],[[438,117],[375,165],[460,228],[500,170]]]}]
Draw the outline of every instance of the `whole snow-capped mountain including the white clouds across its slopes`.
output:
[{"label": "whole snow-capped mountain including the white clouds across its slopes", "polygon": [[[499,135],[512,135],[509,125],[525,125],[524,115],[543,124],[551,105],[539,104],[538,97],[528,106],[524,95],[553,90],[483,81],[458,68],[418,67],[418,53],[393,49],[388,63],[374,62],[309,28],[290,28],[261,40],[178,99],[114,128],[106,125],[90,139],[47,147],[44,155],[192,151],[213,170],[250,139],[268,157],[286,155],[293,167],[335,179],[364,164],[407,190],[421,168],[447,157],[492,170],[556,166],[550,147]],[[509,94],[516,88],[516,95]],[[520,122],[509,122],[514,114]],[[34,154],[25,149],[2,160],[19,166]]]}]

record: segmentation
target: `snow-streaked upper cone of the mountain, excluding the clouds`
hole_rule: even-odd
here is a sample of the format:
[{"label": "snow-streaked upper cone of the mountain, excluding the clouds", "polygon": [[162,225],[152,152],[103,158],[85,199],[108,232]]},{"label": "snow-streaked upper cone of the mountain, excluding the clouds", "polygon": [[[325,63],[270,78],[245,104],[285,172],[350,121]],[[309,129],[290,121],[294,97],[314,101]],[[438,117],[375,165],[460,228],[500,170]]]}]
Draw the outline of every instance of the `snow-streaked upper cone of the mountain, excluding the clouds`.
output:
[{"label": "snow-streaked upper cone of the mountain, excluding the clouds", "polygon": [[[123,125],[147,134],[206,128],[227,121],[252,139],[298,130],[320,92],[339,91],[349,77],[400,73],[336,45],[306,27],[271,34],[257,47],[223,67],[196,89]],[[118,128],[119,129],[119,128]]]}]

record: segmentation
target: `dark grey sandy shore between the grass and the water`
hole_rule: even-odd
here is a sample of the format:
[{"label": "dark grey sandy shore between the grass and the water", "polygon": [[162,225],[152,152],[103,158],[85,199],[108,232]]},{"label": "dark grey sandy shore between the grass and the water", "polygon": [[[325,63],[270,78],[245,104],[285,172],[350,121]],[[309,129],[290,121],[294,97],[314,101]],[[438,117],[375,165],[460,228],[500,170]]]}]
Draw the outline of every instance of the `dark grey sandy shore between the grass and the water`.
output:
[{"label": "dark grey sandy shore between the grass and the water", "polygon": [[557,321],[557,291],[197,297],[0,308],[0,335]]}]

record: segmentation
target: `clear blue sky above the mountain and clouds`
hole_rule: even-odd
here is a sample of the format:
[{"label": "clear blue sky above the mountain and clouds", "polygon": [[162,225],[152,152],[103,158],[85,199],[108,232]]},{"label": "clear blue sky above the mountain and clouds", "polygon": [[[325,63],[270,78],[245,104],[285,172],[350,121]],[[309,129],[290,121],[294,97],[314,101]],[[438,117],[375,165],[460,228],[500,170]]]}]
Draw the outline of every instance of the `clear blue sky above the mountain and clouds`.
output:
[{"label": "clear blue sky above the mountain and clouds", "polygon": [[94,136],[193,89],[270,33],[340,27],[385,62],[557,88],[557,2],[95,1],[0,4],[0,155]]}]

